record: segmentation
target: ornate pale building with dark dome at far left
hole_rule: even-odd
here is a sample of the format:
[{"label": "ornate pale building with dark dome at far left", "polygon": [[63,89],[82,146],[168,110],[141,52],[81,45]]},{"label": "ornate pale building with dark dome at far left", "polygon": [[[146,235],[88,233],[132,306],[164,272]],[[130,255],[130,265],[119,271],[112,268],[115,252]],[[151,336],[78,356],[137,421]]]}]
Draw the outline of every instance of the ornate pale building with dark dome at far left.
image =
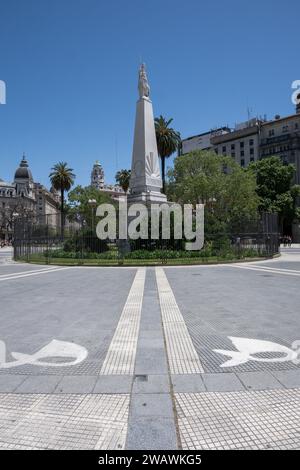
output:
[{"label": "ornate pale building with dark dome at far left", "polygon": [[14,181],[0,179],[0,242],[12,239],[14,220],[20,215],[36,217],[40,223],[45,223],[45,215],[52,215],[51,224],[58,225],[58,209],[58,194],[33,180],[23,155]]}]

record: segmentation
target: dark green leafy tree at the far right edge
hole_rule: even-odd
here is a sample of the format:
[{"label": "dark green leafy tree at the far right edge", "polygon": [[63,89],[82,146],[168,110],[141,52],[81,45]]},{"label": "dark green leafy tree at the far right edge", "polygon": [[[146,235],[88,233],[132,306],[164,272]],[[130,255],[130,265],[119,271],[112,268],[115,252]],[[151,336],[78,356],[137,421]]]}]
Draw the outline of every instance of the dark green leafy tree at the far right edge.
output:
[{"label": "dark green leafy tree at the far right edge", "polygon": [[263,158],[248,167],[257,181],[259,209],[277,212],[281,231],[290,227],[293,220],[300,217],[297,198],[300,186],[293,184],[295,166],[284,164],[279,157]]}]

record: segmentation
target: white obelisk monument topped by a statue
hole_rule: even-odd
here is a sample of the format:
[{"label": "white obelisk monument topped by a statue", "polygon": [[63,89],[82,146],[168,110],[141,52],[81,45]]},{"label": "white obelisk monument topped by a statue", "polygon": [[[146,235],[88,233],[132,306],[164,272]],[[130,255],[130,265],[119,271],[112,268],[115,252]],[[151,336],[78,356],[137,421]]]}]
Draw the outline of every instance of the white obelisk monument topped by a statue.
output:
[{"label": "white obelisk monument topped by a statue", "polygon": [[144,64],[140,66],[139,70],[138,89],[140,98],[136,105],[128,203],[163,203],[167,202],[167,197],[160,192],[162,179],[158,160],[152,102],[149,98],[150,87]]}]

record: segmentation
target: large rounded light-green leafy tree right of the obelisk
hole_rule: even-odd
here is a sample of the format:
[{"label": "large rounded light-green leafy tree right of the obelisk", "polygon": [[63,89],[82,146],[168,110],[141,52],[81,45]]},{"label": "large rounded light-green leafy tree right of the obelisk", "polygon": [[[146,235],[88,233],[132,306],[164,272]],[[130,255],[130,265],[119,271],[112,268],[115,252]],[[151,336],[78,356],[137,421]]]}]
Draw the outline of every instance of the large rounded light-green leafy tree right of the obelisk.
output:
[{"label": "large rounded light-green leafy tree right of the obelisk", "polygon": [[213,151],[179,156],[169,171],[168,199],[205,204],[205,230],[223,236],[257,216],[255,176]]}]

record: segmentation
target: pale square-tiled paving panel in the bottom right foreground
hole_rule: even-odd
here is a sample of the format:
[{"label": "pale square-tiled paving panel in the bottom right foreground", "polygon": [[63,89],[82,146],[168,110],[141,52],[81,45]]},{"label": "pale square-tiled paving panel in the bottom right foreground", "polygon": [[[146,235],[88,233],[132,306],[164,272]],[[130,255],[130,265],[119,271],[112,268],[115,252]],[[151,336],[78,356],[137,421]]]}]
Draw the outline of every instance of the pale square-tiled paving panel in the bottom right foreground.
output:
[{"label": "pale square-tiled paving panel in the bottom right foreground", "polygon": [[300,389],[178,393],[184,449],[299,449]]}]

